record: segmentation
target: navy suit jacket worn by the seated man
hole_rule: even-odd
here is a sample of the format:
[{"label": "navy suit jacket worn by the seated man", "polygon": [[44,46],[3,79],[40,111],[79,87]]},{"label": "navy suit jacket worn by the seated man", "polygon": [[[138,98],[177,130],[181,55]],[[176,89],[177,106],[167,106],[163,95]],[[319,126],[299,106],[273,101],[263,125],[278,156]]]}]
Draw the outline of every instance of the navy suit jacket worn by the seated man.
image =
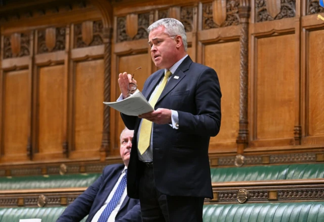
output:
[{"label": "navy suit jacket worn by the seated man", "polygon": [[[57,222],[80,221],[88,214],[87,222],[91,221],[104,205],[124,167],[124,164],[106,166],[101,176],[64,210]],[[139,201],[126,196],[115,221],[142,221]]]}]

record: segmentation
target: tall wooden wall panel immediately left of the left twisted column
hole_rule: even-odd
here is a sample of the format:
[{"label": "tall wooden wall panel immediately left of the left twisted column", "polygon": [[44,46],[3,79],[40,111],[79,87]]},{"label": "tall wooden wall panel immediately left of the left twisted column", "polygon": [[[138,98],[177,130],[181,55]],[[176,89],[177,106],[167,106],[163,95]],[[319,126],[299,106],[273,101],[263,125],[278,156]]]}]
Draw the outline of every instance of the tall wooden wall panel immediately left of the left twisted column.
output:
[{"label": "tall wooden wall panel immediately left of the left twisted column", "polygon": [[[94,38],[89,46],[79,39],[73,25],[69,98],[71,132],[70,159],[99,159],[103,132],[104,45],[103,26],[94,22]],[[84,34],[84,33],[81,33]],[[79,48],[77,48],[79,47]]]}]

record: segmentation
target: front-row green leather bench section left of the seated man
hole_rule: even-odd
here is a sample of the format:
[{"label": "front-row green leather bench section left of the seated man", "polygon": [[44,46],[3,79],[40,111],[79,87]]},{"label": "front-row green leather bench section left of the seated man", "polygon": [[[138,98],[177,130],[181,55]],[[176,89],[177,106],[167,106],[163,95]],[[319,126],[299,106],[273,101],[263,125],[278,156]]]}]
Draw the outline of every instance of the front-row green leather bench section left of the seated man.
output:
[{"label": "front-row green leather bench section left of the seated man", "polygon": [[[19,219],[39,218],[42,222],[55,222],[65,207],[17,207],[0,208],[1,222],[19,222]],[[85,222],[87,216],[81,220]]]}]

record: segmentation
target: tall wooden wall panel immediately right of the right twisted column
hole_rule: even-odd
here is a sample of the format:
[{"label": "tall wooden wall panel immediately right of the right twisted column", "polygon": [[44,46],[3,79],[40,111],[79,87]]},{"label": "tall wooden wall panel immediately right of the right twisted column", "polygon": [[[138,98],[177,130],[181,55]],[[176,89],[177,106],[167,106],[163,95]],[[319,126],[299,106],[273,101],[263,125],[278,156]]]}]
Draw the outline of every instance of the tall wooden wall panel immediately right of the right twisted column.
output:
[{"label": "tall wooden wall panel immediately right of the right twisted column", "polygon": [[299,78],[295,65],[295,2],[281,4],[275,18],[268,14],[264,4],[267,3],[252,4],[255,11],[250,28],[250,146],[293,145],[298,119],[294,115],[295,78]]}]

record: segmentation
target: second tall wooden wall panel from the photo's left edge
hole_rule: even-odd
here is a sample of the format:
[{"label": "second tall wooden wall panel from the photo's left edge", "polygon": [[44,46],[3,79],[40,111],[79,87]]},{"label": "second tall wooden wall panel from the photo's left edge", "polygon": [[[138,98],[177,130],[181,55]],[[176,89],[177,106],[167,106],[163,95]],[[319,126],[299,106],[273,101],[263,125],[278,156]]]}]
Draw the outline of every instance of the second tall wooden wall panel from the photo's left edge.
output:
[{"label": "second tall wooden wall panel from the photo's left edge", "polygon": [[68,154],[69,27],[49,27],[36,33],[33,159],[63,159]]}]

